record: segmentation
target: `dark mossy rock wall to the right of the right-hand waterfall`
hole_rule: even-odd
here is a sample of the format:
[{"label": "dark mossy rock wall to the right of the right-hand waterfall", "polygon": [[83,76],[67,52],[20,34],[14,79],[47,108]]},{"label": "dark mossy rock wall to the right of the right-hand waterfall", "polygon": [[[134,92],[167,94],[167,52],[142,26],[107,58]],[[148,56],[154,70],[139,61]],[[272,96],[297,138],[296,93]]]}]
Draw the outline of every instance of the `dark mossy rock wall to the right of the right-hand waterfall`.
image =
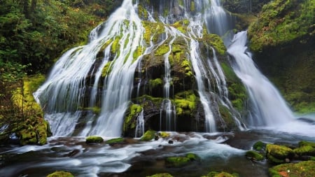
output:
[{"label": "dark mossy rock wall to the right of the right-hand waterfall", "polygon": [[255,62],[301,113],[315,108],[314,7],[314,1],[272,1],[248,29]]}]

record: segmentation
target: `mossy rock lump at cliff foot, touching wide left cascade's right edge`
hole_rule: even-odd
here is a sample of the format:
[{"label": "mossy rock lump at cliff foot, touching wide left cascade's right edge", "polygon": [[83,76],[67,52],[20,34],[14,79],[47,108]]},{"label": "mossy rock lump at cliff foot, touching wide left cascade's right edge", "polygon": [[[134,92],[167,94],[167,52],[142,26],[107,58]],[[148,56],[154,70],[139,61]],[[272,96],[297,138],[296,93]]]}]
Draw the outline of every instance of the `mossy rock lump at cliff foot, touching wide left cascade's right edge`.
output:
[{"label": "mossy rock lump at cliff foot, touching wide left cascade's right edge", "polygon": [[126,113],[123,130],[134,129],[136,127],[136,116],[142,111],[142,106],[139,104],[132,104],[129,108],[129,111]]}]

